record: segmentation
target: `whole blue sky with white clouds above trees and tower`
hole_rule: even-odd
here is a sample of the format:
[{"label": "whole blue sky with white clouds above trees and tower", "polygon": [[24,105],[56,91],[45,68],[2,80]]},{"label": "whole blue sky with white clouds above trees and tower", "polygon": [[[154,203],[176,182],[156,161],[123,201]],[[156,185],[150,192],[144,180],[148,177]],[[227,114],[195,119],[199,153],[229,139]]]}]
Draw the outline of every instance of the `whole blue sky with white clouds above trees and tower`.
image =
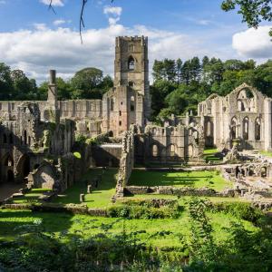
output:
[{"label": "whole blue sky with white clouds above trees and tower", "polygon": [[113,73],[114,37],[148,35],[150,60],[198,55],[253,58],[272,56],[269,24],[248,30],[236,12],[220,9],[221,0],[89,0],[80,42],[81,0],[0,0],[0,62],[23,69],[38,82],[47,70],[64,78],[86,66]]}]

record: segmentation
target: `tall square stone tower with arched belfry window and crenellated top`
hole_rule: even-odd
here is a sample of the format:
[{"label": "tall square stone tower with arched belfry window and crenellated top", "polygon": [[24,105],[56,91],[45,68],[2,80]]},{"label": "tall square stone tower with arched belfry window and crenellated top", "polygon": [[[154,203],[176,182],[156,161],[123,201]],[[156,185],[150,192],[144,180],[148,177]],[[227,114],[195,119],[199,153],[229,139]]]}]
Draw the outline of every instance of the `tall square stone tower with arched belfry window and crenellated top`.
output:
[{"label": "tall square stone tower with arched belfry window and crenellated top", "polygon": [[151,113],[147,37],[116,38],[114,87],[103,96],[102,111],[103,131],[144,129]]}]

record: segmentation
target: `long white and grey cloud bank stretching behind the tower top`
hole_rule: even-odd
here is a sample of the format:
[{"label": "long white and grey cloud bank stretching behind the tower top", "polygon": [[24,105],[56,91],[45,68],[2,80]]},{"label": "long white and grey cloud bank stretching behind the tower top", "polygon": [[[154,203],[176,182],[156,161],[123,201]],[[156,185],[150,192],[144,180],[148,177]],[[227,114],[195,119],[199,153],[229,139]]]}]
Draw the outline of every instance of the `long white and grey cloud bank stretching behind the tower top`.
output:
[{"label": "long white and grey cloud bank stretching behind the tower top", "polygon": [[[201,37],[162,31],[144,25],[125,27],[110,24],[105,28],[89,29],[80,35],[72,28],[50,29],[45,24],[35,24],[34,30],[18,30],[0,33],[0,59],[13,69],[22,69],[37,82],[46,80],[49,69],[56,69],[67,79],[84,67],[97,67],[113,74],[115,37],[121,35],[145,35],[149,37],[149,59],[188,59],[216,50],[205,46]],[[150,67],[151,69],[151,67]]]}]

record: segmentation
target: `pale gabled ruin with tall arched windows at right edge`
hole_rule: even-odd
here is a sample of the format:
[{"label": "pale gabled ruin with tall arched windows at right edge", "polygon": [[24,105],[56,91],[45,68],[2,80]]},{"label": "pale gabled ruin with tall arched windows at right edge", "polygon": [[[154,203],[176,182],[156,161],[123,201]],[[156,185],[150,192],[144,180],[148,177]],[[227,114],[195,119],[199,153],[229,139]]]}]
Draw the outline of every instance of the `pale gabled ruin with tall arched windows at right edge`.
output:
[{"label": "pale gabled ruin with tall arched windows at right edge", "polygon": [[271,150],[272,101],[246,83],[225,97],[210,95],[199,103],[198,112],[215,146],[231,149],[239,140],[242,149]]}]

